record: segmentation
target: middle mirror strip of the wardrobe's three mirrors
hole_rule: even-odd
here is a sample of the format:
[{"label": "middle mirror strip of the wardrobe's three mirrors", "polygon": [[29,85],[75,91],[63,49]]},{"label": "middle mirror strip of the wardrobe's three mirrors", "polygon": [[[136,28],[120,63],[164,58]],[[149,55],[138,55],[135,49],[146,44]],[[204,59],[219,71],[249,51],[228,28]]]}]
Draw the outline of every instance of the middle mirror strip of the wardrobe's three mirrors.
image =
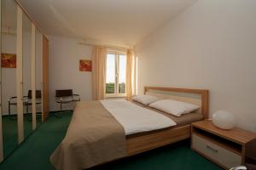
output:
[{"label": "middle mirror strip of the wardrobe's three mirrors", "polygon": [[25,13],[22,16],[22,75],[24,103],[24,137],[32,133],[32,79],[31,79],[31,46],[32,22]]}]

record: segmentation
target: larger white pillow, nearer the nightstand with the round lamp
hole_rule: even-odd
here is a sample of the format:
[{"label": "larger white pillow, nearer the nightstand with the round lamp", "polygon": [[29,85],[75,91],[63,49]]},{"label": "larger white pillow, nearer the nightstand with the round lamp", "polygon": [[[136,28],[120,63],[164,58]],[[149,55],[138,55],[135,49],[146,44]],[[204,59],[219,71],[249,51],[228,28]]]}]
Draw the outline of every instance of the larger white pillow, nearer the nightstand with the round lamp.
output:
[{"label": "larger white pillow, nearer the nightstand with the round lamp", "polygon": [[182,101],[172,100],[172,99],[161,99],[150,104],[149,107],[158,109],[160,111],[165,111],[174,116],[182,116],[183,114],[195,111],[200,107],[198,105],[188,104]]}]

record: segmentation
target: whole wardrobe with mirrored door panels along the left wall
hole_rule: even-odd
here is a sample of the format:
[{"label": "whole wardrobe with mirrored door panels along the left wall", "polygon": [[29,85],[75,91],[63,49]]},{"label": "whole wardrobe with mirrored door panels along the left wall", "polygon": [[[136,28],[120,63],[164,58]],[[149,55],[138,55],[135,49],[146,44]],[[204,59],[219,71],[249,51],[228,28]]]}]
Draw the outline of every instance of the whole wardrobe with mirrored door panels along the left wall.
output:
[{"label": "whole wardrobe with mirrored door panels along the left wall", "polygon": [[48,40],[15,0],[0,4],[3,161],[48,116]]}]

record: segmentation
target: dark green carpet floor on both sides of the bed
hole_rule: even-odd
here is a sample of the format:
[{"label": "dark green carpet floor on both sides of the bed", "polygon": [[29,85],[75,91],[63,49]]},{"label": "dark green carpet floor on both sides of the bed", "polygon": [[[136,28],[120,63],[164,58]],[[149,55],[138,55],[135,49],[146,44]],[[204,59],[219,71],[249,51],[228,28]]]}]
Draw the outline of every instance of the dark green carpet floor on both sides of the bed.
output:
[{"label": "dark green carpet floor on both sides of the bed", "polygon": [[[0,169],[55,169],[49,162],[49,156],[64,138],[72,112],[61,113],[61,118],[50,114],[46,122],[30,135],[26,141],[0,164]],[[221,169],[204,157],[189,149],[189,141],[170,144],[157,150],[151,150],[138,156],[91,168],[91,170],[164,170],[164,169]]]}]

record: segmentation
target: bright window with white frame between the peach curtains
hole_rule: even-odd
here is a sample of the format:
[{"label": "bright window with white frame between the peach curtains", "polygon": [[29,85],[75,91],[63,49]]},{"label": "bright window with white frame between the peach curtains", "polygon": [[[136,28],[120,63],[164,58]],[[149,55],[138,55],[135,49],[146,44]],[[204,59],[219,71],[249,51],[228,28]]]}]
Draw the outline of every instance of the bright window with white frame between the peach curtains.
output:
[{"label": "bright window with white frame between the peach curtains", "polygon": [[106,96],[124,96],[125,82],[125,52],[109,51],[107,55]]}]

